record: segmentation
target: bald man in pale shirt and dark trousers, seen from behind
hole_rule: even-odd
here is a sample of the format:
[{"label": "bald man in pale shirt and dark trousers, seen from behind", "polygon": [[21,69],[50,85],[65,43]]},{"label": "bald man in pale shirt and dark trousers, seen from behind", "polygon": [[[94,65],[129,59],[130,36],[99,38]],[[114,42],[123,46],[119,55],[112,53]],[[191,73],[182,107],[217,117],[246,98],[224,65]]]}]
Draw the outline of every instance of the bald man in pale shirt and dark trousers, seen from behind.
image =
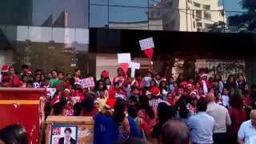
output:
[{"label": "bald man in pale shirt and dark trousers, seen from behind", "polygon": [[215,102],[214,94],[206,96],[208,102],[206,113],[214,118],[214,144],[225,144],[226,126],[231,126],[230,114],[226,107],[220,106]]}]

